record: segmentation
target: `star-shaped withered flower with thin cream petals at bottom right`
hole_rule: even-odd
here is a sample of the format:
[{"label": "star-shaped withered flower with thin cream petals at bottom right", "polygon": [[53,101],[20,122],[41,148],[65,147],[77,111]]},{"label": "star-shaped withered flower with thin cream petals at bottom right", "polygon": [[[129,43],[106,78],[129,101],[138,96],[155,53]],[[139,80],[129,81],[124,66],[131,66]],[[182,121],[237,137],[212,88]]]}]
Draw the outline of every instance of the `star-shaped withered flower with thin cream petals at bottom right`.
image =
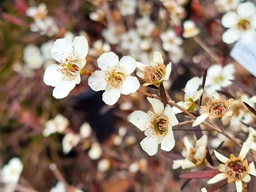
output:
[{"label": "star-shaped withered flower with thin cream petals at bottom right", "polygon": [[208,184],[216,183],[223,179],[228,179],[228,183],[235,181],[236,191],[243,191],[243,182],[249,182],[251,180],[251,175],[256,176],[256,169],[254,166],[254,162],[248,164],[247,159],[244,160],[244,157],[247,155],[249,151],[249,146],[247,144],[243,144],[241,152],[238,157],[233,154],[230,155],[230,158],[227,158],[217,151],[214,150],[215,156],[224,164],[219,164],[219,173],[214,176],[212,179],[208,180]]}]

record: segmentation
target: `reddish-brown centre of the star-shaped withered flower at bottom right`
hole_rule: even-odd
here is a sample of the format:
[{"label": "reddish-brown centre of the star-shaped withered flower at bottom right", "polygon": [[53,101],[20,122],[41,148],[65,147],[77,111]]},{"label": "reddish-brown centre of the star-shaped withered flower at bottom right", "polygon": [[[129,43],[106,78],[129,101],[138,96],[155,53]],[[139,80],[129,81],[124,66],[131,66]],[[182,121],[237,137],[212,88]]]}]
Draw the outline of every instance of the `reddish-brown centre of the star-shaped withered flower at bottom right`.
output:
[{"label": "reddish-brown centre of the star-shaped withered flower at bottom right", "polygon": [[247,174],[248,163],[239,157],[233,157],[226,163],[225,174],[228,177],[228,182],[241,180]]}]

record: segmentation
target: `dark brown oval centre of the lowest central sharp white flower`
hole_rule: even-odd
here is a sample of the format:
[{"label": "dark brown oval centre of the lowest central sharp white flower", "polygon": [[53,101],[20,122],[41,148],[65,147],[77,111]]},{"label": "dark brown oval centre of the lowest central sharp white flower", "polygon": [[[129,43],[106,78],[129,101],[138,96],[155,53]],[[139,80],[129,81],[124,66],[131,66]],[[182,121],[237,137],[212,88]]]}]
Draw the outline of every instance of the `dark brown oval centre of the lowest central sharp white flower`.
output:
[{"label": "dark brown oval centre of the lowest central sharp white flower", "polygon": [[163,135],[168,131],[168,121],[162,115],[155,116],[153,126],[158,136]]}]

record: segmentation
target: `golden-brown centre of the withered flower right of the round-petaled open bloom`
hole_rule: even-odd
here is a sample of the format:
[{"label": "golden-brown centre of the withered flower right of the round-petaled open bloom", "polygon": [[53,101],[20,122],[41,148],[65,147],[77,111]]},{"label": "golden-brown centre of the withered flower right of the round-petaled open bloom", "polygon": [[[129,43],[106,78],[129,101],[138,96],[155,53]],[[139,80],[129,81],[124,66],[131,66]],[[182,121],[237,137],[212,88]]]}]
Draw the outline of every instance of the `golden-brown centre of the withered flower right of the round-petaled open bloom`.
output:
[{"label": "golden-brown centre of the withered flower right of the round-petaled open bloom", "polygon": [[158,63],[158,66],[145,67],[145,81],[150,84],[160,84],[162,78],[166,74],[166,66],[162,63]]}]

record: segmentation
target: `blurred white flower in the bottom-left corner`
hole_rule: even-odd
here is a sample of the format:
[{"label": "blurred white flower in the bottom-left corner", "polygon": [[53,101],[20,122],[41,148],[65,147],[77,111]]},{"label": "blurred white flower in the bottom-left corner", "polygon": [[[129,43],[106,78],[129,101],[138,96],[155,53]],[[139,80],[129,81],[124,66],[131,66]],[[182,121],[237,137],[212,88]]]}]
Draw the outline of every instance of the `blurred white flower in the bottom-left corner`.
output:
[{"label": "blurred white flower in the bottom-left corner", "polygon": [[4,165],[1,170],[1,176],[4,183],[18,183],[23,163],[17,157],[13,157],[7,165]]}]

